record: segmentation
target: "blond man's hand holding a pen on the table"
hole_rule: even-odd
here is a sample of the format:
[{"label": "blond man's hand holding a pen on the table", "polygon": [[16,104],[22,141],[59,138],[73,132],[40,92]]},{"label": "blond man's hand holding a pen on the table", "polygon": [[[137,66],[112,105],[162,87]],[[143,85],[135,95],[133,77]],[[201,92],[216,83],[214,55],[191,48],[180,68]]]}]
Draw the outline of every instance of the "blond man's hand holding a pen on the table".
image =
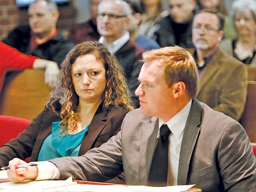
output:
[{"label": "blond man's hand holding a pen on the table", "polygon": [[38,167],[37,166],[28,166],[25,168],[17,168],[17,165],[25,165],[28,164],[19,158],[14,158],[13,160],[9,161],[9,167],[7,171],[7,175],[10,181],[15,183],[31,179],[35,180],[38,177]]}]

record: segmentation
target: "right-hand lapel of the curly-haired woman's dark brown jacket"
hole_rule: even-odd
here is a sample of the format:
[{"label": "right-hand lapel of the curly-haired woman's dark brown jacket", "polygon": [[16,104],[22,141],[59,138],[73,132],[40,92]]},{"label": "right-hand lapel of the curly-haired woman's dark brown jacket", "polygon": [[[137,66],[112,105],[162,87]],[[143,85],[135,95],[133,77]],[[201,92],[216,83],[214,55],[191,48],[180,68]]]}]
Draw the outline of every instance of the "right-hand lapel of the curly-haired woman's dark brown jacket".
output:
[{"label": "right-hand lapel of the curly-haired woman's dark brown jacket", "polygon": [[92,148],[93,143],[95,142],[96,138],[99,136],[102,129],[104,129],[106,124],[107,124],[106,111],[99,112],[98,114],[95,114],[93,116],[90,126],[88,127],[88,133],[85,136],[85,139],[82,140],[78,156],[84,155],[84,153],[86,153]]}]

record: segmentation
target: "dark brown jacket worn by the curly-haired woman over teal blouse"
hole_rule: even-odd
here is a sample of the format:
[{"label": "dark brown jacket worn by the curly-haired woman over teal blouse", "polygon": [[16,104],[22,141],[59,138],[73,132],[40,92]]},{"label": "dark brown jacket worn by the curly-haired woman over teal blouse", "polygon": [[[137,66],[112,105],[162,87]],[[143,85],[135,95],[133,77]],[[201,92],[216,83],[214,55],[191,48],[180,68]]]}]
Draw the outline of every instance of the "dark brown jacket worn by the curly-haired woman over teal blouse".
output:
[{"label": "dark brown jacket worn by the curly-haired woman over teal blouse", "polygon": [[[55,103],[54,107],[60,110],[59,103]],[[98,109],[90,123],[87,135],[82,140],[79,156],[93,147],[101,146],[102,143],[116,135],[126,113],[124,109],[115,108],[109,112]],[[51,134],[52,122],[60,120],[57,113],[45,108],[17,138],[0,147],[0,166],[7,166],[9,160],[13,158],[24,160],[31,157],[31,161],[36,161],[45,138]]]}]

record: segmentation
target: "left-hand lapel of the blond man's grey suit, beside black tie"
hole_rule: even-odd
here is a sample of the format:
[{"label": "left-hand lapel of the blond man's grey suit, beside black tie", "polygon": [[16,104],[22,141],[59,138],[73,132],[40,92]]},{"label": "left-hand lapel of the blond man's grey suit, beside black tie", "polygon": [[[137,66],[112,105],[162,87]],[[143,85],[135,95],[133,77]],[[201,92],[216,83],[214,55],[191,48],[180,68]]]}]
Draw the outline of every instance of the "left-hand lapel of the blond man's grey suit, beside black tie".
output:
[{"label": "left-hand lapel of the blond man's grey suit, beside black tie", "polygon": [[140,181],[147,181],[154,148],[157,142],[158,118],[151,117],[151,123],[145,123],[142,132],[142,141],[139,156],[138,177]]}]

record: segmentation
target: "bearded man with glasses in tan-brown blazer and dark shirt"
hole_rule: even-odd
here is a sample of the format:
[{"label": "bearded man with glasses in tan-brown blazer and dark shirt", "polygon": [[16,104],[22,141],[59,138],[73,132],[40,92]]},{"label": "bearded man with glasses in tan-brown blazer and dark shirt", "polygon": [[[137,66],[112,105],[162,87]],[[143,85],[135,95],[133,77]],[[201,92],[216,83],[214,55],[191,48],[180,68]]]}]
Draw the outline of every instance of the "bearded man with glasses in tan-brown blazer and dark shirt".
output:
[{"label": "bearded man with glasses in tan-brown blazer and dark shirt", "polygon": [[224,16],[202,9],[193,20],[192,42],[199,73],[196,97],[212,109],[239,120],[247,94],[247,71],[243,63],[219,48],[223,37]]}]

